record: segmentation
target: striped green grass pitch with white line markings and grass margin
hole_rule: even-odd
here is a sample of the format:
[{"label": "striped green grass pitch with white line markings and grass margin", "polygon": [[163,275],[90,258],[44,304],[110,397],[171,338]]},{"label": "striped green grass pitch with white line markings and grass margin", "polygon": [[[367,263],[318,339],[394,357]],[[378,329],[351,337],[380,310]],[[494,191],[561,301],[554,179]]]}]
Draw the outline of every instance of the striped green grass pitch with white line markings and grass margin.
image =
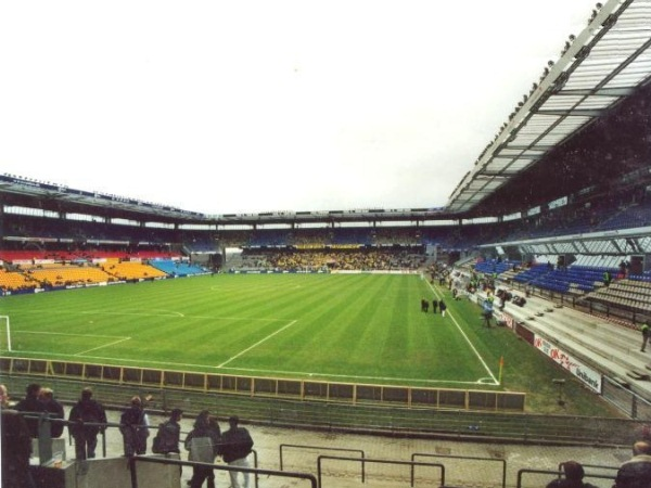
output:
[{"label": "striped green grass pitch with white line markings and grass margin", "polygon": [[[420,311],[422,297],[444,293],[445,319]],[[418,275],[206,275],[10,296],[0,314],[11,318],[18,357],[511,389],[529,393],[535,410],[553,404],[551,377],[565,374],[512,332],[482,328],[476,305],[454,301]],[[590,410],[595,396],[571,383],[585,397],[580,412],[599,414],[603,407]]]}]

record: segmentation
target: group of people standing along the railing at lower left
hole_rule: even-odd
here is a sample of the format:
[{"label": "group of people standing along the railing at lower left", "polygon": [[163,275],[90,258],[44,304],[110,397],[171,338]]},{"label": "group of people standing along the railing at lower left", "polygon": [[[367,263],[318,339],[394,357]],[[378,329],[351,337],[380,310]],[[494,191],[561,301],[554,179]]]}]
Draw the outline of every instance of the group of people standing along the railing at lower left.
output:
[{"label": "group of people standing along the railing at lower left", "polygon": [[[182,445],[188,451],[189,461],[213,464],[217,457],[221,457],[229,466],[251,467],[248,455],[253,452],[254,441],[248,431],[240,425],[238,416],[230,416],[229,428],[221,433],[217,418],[208,410],[204,410],[197,415],[193,429],[183,440],[179,424],[183,412],[174,409],[169,420],[156,428],[150,424],[144,400],[139,396],[132,397],[120,415],[118,428],[123,436],[125,458],[143,455],[148,452],[180,454]],[[104,407],[93,398],[90,387],[81,390],[80,399],[69,409],[67,421],[65,421],[64,408],[54,398],[53,390],[37,383],[27,385],[25,398],[15,403],[10,402],[5,385],[0,385],[0,411],[2,412],[0,425],[2,487],[36,487],[29,470],[29,459],[33,454],[31,440],[43,441],[41,425],[43,414],[49,414],[51,439],[60,438],[67,424],[75,441],[76,461],[95,458],[98,436],[103,435],[106,428],[115,426],[107,422]],[[155,435],[152,436],[151,446],[148,446],[150,431],[154,431]],[[44,439],[47,440],[47,437]],[[229,475],[232,487],[248,488],[248,473],[229,471]],[[188,485],[191,488],[200,488],[206,479],[208,488],[214,488],[214,470],[209,466],[195,465]]]}]

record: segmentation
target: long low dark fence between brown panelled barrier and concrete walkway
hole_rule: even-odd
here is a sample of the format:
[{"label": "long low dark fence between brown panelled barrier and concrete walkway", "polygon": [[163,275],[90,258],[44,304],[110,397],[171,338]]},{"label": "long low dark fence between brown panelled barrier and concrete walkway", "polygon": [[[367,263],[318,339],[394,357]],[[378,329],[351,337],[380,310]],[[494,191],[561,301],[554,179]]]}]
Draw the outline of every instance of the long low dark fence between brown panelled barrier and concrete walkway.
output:
[{"label": "long low dark fence between brown panelled barrier and concrete walkway", "polygon": [[635,433],[649,428],[644,421],[617,418],[434,410],[370,403],[358,403],[352,408],[344,402],[296,401],[149,385],[2,374],[2,383],[10,391],[24,390],[26,385],[34,382],[51,387],[56,398],[67,404],[74,404],[79,399],[81,389],[90,386],[93,398],[100,400],[106,409],[122,410],[131,397],[140,396],[143,407],[154,414],[165,414],[174,408],[181,408],[186,415],[193,416],[202,410],[209,410],[221,415],[235,413],[253,424],[322,432],[628,447]]}]

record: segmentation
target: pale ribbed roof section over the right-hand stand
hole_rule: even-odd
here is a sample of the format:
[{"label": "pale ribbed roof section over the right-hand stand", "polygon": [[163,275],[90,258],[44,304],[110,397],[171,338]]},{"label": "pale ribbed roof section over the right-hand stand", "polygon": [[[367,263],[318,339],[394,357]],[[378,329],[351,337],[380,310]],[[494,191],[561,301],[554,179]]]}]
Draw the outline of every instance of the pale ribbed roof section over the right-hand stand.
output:
[{"label": "pale ribbed roof section over the right-hand stand", "polygon": [[447,210],[467,213],[651,80],[651,0],[611,0],[523,97],[457,185]]}]

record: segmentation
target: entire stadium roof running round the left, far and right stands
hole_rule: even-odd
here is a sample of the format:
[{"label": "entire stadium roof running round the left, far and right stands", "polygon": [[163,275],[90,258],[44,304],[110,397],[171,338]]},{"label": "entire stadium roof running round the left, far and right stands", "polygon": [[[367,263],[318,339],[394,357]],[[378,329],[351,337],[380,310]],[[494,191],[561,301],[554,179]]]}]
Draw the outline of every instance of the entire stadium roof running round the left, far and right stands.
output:
[{"label": "entire stadium roof running round the left, far and right stands", "polygon": [[[558,62],[550,62],[538,82],[524,95],[502,125],[495,140],[486,146],[471,171],[457,185],[446,207],[400,209],[355,209],[268,214],[205,215],[167,205],[125,198],[113,194],[71,189],[47,181],[0,175],[0,193],[37,197],[66,208],[93,206],[105,211],[155,215],[163,219],[187,222],[285,222],[358,220],[455,219],[490,214],[496,200],[529,189],[514,184],[519,177],[533,175],[536,191],[541,169],[552,167],[550,153],[576,139],[588,127],[651,81],[651,0],[610,0],[595,11],[588,26],[571,36]],[[592,126],[595,127],[595,126]],[[589,170],[600,171],[591,162]],[[610,164],[610,163],[605,163]],[[612,166],[612,165],[611,165]],[[536,170],[535,174],[527,172]],[[580,171],[580,168],[575,168]],[[558,181],[552,182],[559,187]],[[564,189],[559,189],[563,191]],[[549,194],[546,194],[548,197]],[[512,205],[507,205],[512,207]],[[493,208],[493,210],[495,210]],[[498,209],[502,211],[503,209]]]}]

